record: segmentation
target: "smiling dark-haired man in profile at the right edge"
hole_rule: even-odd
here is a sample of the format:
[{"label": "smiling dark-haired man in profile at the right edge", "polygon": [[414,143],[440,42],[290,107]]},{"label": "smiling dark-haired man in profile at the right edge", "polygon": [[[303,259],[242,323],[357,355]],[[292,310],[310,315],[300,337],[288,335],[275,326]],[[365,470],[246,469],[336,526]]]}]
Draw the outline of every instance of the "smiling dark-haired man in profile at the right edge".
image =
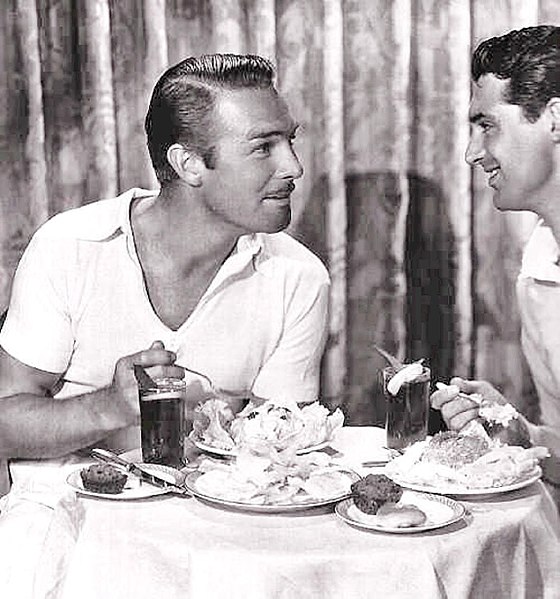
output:
[{"label": "smiling dark-haired man in profile at the right edge", "polygon": [[[499,210],[530,210],[540,217],[524,252],[517,292],[541,423],[520,416],[512,431],[549,448],[545,479],[560,485],[560,28],[527,27],[482,42],[473,55],[472,77],[466,159],[488,173]],[[432,405],[453,429],[478,417],[478,407],[458,391],[506,402],[488,382],[451,383],[451,389],[434,393]]]}]

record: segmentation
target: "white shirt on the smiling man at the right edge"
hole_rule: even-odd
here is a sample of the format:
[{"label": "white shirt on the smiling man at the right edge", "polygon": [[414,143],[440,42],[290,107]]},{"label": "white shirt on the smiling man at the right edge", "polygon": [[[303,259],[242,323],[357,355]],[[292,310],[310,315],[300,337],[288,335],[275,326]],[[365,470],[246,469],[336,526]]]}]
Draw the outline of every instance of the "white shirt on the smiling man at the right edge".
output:
[{"label": "white shirt on the smiling man at the right edge", "polygon": [[560,250],[542,221],[525,247],[517,296],[523,353],[541,412],[541,424],[531,427],[531,437],[554,452],[545,462],[545,475],[560,484]]}]

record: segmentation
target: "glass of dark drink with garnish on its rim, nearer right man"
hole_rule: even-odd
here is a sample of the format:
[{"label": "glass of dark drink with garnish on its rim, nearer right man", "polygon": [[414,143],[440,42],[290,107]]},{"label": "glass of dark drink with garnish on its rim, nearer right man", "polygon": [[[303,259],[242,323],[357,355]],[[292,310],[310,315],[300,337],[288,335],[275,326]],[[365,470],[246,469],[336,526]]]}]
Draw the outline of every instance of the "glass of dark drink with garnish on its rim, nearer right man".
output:
[{"label": "glass of dark drink with garnish on its rim, nearer right man", "polygon": [[387,447],[393,449],[403,449],[426,438],[430,407],[430,369],[423,366],[413,380],[405,380],[392,393],[387,385],[398,370],[391,366],[382,372],[387,402]]}]

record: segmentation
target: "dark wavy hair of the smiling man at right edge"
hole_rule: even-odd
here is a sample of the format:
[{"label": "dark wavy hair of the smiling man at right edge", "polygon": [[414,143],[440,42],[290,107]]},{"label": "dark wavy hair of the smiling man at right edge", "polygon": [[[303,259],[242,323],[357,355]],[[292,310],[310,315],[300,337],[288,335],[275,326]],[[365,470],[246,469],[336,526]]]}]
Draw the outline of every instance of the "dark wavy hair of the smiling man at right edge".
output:
[{"label": "dark wavy hair of the smiling man at right edge", "polygon": [[534,123],[547,102],[560,97],[560,27],[525,27],[481,42],[471,74],[474,81],[487,74],[507,79],[504,100]]}]

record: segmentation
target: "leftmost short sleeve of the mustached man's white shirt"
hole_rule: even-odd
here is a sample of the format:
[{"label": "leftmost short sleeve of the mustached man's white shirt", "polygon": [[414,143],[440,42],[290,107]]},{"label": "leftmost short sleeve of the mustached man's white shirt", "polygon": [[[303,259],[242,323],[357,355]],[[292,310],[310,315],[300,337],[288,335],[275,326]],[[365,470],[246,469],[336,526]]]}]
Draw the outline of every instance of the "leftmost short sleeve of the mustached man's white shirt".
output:
[{"label": "leftmost short sleeve of the mustached man's white shirt", "polygon": [[68,240],[52,239],[41,229],[33,236],[17,267],[0,331],[0,345],[13,358],[54,373],[66,370],[73,347],[68,245]]}]

